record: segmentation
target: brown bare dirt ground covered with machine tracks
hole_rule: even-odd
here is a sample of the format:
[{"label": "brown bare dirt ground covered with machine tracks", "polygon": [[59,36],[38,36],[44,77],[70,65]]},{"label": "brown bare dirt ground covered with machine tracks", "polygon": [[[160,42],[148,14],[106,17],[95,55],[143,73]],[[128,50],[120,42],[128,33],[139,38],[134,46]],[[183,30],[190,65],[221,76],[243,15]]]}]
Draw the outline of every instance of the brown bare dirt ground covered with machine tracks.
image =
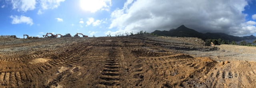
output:
[{"label": "brown bare dirt ground covered with machine tracks", "polygon": [[256,48],[198,38],[0,38],[0,88],[255,88]]}]

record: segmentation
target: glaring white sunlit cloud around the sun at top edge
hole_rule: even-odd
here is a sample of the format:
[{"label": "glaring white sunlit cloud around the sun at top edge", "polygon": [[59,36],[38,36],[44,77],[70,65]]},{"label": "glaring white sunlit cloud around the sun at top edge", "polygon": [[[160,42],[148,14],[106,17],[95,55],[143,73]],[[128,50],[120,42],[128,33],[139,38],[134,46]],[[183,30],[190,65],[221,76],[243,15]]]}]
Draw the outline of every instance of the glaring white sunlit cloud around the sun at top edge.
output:
[{"label": "glaring white sunlit cloud around the sun at top edge", "polygon": [[80,0],[80,6],[82,9],[90,12],[96,12],[98,10],[109,11],[111,0]]}]

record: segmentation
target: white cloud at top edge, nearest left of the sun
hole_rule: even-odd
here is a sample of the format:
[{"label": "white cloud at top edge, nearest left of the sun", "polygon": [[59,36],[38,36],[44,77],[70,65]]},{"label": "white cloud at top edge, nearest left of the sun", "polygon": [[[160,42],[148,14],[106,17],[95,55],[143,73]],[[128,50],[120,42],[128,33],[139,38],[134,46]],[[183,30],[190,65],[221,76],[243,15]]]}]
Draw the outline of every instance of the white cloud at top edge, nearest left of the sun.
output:
[{"label": "white cloud at top edge, nearest left of the sun", "polygon": [[64,2],[65,0],[40,0],[39,3],[43,10],[54,9],[60,6],[60,2]]}]

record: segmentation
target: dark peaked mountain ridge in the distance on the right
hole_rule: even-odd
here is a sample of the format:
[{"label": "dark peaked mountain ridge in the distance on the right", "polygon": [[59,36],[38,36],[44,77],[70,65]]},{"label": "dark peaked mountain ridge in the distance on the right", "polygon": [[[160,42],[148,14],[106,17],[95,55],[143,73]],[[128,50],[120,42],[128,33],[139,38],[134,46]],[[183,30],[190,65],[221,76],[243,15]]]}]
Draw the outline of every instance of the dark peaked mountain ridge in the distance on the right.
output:
[{"label": "dark peaked mountain ridge in the distance on the right", "polygon": [[228,35],[225,33],[200,33],[197,32],[196,30],[187,28],[186,26],[182,25],[176,29],[171,29],[169,31],[160,31],[160,30],[155,30],[152,32],[154,34],[160,35],[160,36],[171,36],[171,37],[197,37],[201,38],[202,40],[206,39],[219,39],[221,38],[222,40],[229,40],[231,41],[242,41],[242,40],[256,40],[256,36],[250,35],[250,36],[243,36],[243,37],[238,37],[238,36],[232,36]]}]

